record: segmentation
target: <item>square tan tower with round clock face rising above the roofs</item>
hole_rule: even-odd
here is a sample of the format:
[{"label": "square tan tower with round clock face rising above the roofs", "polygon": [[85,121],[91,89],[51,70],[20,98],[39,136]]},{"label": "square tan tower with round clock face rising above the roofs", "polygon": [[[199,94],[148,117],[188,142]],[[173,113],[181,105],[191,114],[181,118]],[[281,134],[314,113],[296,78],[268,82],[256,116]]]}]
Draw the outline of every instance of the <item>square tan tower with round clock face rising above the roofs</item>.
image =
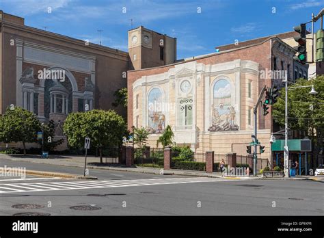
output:
[{"label": "square tan tower with round clock face rising above the roofs", "polygon": [[144,27],[129,31],[129,58],[132,70],[152,68],[176,62],[176,38]]}]

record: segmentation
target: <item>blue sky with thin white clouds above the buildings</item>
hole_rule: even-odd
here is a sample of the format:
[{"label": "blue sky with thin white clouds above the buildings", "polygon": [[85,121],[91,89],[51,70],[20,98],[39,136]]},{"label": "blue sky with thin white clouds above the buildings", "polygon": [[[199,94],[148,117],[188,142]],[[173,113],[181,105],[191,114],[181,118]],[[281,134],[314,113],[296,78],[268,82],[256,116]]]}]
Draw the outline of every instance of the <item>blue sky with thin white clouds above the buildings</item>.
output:
[{"label": "blue sky with thin white clouds above the buildings", "polygon": [[321,8],[324,0],[0,0],[0,10],[25,25],[122,51],[127,31],[142,25],[177,38],[178,59],[292,31]]}]

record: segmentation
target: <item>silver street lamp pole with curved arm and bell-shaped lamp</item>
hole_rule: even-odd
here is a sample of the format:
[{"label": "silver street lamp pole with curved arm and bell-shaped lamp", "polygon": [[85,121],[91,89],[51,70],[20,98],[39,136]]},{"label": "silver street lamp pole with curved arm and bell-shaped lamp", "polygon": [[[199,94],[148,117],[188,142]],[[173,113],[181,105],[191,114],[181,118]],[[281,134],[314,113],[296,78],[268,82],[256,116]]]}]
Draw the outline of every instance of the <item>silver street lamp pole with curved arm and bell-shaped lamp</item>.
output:
[{"label": "silver street lamp pole with curved arm and bell-shaped lamp", "polygon": [[312,88],[309,94],[314,95],[317,94],[314,85],[308,86],[297,86],[291,87],[288,89],[288,78],[287,74],[285,77],[285,114],[284,114],[284,176],[289,177],[289,168],[288,168],[288,161],[289,161],[289,148],[288,148],[288,90],[294,90],[296,88]]}]

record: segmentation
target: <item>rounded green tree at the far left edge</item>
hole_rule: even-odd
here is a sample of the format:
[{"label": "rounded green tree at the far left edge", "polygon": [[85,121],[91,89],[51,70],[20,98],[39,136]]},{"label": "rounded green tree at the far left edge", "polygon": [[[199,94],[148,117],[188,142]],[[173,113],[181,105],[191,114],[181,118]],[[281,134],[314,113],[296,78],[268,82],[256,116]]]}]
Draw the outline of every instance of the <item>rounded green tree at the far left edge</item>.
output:
[{"label": "rounded green tree at the far left edge", "polygon": [[37,132],[40,131],[40,121],[37,116],[22,107],[7,108],[1,117],[0,138],[2,142],[23,142],[24,155],[26,143],[37,142]]}]

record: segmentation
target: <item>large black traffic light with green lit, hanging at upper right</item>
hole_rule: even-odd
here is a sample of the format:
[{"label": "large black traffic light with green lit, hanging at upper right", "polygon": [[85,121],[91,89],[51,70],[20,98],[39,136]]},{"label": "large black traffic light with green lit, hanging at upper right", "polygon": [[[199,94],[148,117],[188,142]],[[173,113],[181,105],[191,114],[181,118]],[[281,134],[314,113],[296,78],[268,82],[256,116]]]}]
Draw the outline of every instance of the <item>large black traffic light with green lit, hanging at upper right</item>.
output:
[{"label": "large black traffic light with green lit, hanging at upper right", "polygon": [[306,24],[301,24],[294,29],[299,33],[299,36],[294,37],[294,40],[298,42],[298,46],[294,47],[298,55],[294,56],[294,59],[301,64],[306,64]]}]

